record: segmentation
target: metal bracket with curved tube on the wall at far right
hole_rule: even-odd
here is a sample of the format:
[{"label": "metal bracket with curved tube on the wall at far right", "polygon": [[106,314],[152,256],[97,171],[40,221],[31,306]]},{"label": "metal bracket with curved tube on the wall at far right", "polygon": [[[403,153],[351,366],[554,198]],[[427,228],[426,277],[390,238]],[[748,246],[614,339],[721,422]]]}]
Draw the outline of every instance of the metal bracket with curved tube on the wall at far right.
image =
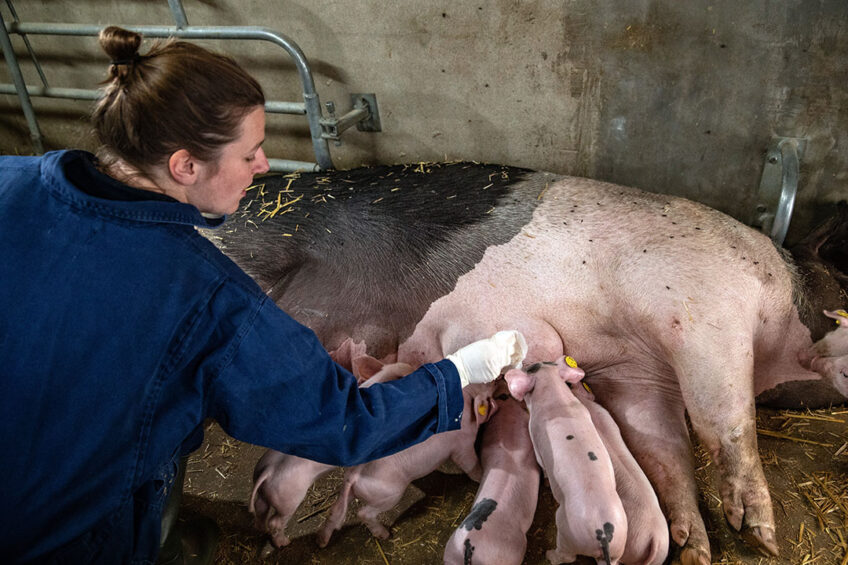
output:
[{"label": "metal bracket with curved tube on the wall at far right", "polygon": [[806,140],[780,137],[766,152],[751,225],[783,245],[798,192],[799,164]]}]

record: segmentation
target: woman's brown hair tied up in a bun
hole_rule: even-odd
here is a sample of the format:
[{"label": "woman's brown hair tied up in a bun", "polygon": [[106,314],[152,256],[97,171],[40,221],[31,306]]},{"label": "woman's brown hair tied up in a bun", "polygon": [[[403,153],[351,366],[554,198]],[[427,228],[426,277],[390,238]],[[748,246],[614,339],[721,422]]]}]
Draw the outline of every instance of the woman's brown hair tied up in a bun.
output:
[{"label": "woman's brown hair tied up in a bun", "polygon": [[121,159],[147,173],[179,149],[214,161],[244,116],[265,104],[259,83],[225,55],[173,39],[139,55],[140,45],[126,29],[100,32],[112,58],[92,113],[103,165]]}]

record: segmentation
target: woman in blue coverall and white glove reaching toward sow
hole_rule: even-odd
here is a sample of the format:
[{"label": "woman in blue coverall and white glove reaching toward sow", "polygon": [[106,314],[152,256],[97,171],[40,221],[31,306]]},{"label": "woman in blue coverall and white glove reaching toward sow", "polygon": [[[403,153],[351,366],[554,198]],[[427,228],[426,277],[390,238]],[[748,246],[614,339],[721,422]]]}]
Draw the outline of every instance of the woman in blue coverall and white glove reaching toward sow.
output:
[{"label": "woman in blue coverall and white glove reaching toward sow", "polygon": [[459,426],[461,387],[526,352],[500,332],[359,389],[315,335],[195,227],[235,211],[264,96],[234,61],[100,36],[102,143],[0,158],[0,555],[150,563],[177,461],[205,418],[232,436],[352,465]]}]

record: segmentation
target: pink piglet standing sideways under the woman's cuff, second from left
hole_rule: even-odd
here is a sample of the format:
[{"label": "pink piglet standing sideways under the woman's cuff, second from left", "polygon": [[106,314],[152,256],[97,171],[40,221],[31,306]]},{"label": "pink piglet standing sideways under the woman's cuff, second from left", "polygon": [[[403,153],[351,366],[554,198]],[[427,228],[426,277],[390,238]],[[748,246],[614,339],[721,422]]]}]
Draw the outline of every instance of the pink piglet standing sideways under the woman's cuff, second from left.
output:
[{"label": "pink piglet standing sideways under the woman's cuff, second from left", "polygon": [[453,460],[475,481],[482,475],[480,461],[474,451],[479,426],[495,413],[495,384],[471,384],[462,389],[464,408],[458,430],[436,434],[429,439],[393,455],[351,467],[338,500],[318,532],[318,545],[326,547],[335,530],[341,528],[351,495],[364,505],[357,515],[378,538],[389,537],[389,531],[377,515],[394,507],[403,497],[407,485],[435,471],[442,463]]}]

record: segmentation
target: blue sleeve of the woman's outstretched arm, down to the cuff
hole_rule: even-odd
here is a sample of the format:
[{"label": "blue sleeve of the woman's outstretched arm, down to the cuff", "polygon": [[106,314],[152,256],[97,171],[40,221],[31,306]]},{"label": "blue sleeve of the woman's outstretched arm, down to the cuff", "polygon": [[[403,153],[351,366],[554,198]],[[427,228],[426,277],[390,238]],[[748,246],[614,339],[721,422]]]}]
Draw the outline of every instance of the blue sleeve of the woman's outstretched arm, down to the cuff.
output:
[{"label": "blue sleeve of the woman's outstretched arm, down to the cuff", "polygon": [[462,408],[450,361],[360,389],[310,329],[264,299],[214,379],[210,416],[241,441],[350,466],[458,429]]}]

